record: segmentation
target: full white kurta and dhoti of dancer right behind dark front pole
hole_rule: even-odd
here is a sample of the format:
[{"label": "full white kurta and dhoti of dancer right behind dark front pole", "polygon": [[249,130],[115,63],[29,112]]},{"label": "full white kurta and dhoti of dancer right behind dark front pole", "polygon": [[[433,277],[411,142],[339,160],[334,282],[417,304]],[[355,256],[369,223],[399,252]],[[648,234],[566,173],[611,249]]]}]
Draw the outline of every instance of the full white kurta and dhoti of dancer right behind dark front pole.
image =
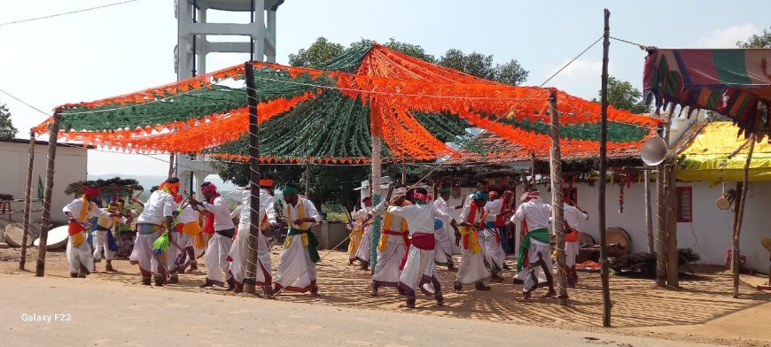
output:
[{"label": "full white kurta and dhoti of dancer right behind dark front pole", "polygon": [[[246,278],[246,269],[248,266],[247,256],[249,254],[249,230],[251,227],[252,193],[247,189],[237,189],[230,191],[230,197],[241,201],[240,217],[238,219],[238,234],[236,240],[230,247],[228,258],[230,259],[229,273],[238,284],[243,284]],[[266,189],[260,189],[260,220],[263,220],[268,212],[269,223],[276,223],[276,212],[273,209],[274,199]],[[262,227],[267,227],[263,225]],[[254,274],[255,284],[258,286],[267,285],[272,281],[270,253],[268,250],[268,240],[265,235],[257,235],[257,268]]]}]

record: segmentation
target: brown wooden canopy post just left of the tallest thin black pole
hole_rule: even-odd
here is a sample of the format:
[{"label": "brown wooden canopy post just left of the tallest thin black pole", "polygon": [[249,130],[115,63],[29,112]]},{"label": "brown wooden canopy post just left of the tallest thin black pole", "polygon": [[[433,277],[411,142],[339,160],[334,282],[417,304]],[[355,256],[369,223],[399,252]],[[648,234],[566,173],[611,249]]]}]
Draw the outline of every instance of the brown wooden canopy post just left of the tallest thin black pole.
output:
[{"label": "brown wooden canopy post just left of the tallest thin black pole", "polygon": [[[559,149],[559,112],[557,95],[549,91],[549,115],[551,116],[551,207],[554,210],[554,235],[557,236],[557,298],[559,305],[568,305],[567,273],[565,272],[565,211],[562,191],[562,154]],[[549,269],[550,271],[551,269]]]}]

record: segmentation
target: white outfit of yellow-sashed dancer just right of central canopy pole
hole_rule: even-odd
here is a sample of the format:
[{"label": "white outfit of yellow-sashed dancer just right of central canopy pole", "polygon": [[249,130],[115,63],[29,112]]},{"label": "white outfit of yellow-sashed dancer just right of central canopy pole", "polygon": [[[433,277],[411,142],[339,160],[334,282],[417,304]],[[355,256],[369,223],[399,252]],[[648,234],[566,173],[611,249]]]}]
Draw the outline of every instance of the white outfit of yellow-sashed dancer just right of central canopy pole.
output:
[{"label": "white outfit of yellow-sashed dancer just right of central canopy pole", "polygon": [[[410,204],[409,201],[404,202],[403,205]],[[377,215],[385,210],[385,200],[375,206],[372,209],[372,214]],[[391,217],[391,224],[385,224],[385,216],[388,212],[385,212],[383,219],[383,230],[391,230],[395,232],[401,232],[402,218],[399,216]],[[381,233],[380,237],[384,235]],[[375,265],[374,274],[372,274],[372,281],[381,287],[396,287],[399,284],[399,278],[401,277],[401,259],[404,258],[404,254],[407,253],[407,245],[404,244],[404,238],[401,235],[388,235],[388,241],[385,243],[385,250],[378,250],[378,264]]]}]

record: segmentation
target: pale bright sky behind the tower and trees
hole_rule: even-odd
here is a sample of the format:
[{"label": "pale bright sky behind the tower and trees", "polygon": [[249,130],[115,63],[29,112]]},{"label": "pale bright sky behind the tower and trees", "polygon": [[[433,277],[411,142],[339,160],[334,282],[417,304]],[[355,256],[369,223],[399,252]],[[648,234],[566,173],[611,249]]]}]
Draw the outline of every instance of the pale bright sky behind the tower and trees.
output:
[{"label": "pale bright sky behind the tower and trees", "polygon": [[[183,1],[183,0],[181,0]],[[4,1],[0,23],[111,4],[117,0]],[[602,35],[603,9],[611,35],[658,47],[725,48],[771,25],[771,1],[455,1],[286,0],[277,14],[277,60],[307,48],[316,37],[347,45],[390,37],[416,43],[439,57],[450,48],[516,58],[539,85]],[[241,18],[243,17],[243,18]],[[210,14],[210,20],[246,21],[245,14]],[[214,41],[214,40],[212,40]],[[175,81],[173,0],[135,3],[0,26],[0,89],[45,111],[58,104],[125,94]],[[645,54],[611,42],[610,73],[642,89]],[[210,71],[243,63],[241,54],[212,54]],[[592,98],[600,89],[602,45],[549,83]],[[18,137],[46,116],[0,94]],[[164,156],[165,158],[165,156]],[[160,160],[91,151],[90,174],[159,174]]]}]

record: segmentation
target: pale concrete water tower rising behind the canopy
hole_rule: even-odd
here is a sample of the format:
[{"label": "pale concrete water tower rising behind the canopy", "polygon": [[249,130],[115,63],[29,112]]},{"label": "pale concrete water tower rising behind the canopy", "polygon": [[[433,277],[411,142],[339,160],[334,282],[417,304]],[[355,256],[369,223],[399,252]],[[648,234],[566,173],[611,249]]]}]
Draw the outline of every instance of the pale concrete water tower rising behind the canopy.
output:
[{"label": "pale concrete water tower rising behind the canopy", "polygon": [[[284,0],[175,0],[177,81],[206,73],[206,55],[214,52],[250,53],[251,60],[276,62],[276,10]],[[206,12],[243,12],[249,23],[209,23]],[[248,15],[251,14],[251,17]],[[248,42],[209,42],[207,36],[249,36]],[[223,67],[223,66],[221,66]],[[175,156],[176,176],[183,189],[200,197],[199,183],[214,172],[206,161]],[[193,185],[193,178],[196,184]]]}]

